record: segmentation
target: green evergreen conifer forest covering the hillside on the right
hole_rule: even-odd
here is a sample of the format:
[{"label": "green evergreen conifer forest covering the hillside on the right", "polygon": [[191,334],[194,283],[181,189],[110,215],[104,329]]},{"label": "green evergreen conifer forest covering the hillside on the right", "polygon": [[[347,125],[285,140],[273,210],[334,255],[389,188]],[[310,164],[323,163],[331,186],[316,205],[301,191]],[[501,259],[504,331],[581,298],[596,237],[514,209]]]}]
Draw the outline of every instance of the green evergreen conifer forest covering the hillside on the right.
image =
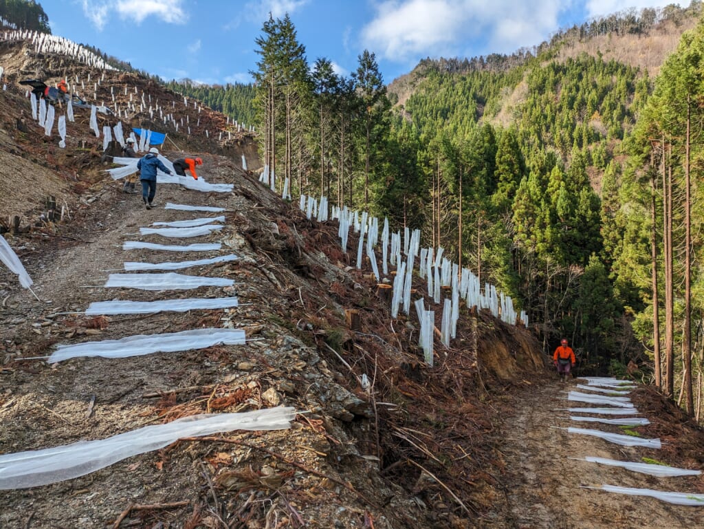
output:
[{"label": "green evergreen conifer forest covering the hillside on the right", "polygon": [[[340,77],[309,60],[288,16],[270,18],[253,86],[177,89],[256,116],[265,166],[294,196],[422,229],[518,300],[546,350],[567,337],[595,373],[633,360],[690,406],[704,347],[700,7],[617,13],[512,56],[426,59],[391,85],[371,51]],[[657,75],[565,53],[687,21]]]}]

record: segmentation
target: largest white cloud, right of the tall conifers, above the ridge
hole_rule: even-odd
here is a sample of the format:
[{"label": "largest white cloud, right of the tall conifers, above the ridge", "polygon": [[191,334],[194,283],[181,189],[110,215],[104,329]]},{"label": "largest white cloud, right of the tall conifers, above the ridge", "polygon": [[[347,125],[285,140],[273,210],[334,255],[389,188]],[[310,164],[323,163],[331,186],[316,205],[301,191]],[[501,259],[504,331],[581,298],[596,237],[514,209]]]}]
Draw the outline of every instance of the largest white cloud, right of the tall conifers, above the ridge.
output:
[{"label": "largest white cloud, right of the tall conifers, above the ridge", "polygon": [[[539,44],[558,27],[558,14],[572,1],[384,0],[362,30],[362,44],[379,57],[413,61],[425,56],[511,53]],[[477,46],[477,40],[482,43]]]}]

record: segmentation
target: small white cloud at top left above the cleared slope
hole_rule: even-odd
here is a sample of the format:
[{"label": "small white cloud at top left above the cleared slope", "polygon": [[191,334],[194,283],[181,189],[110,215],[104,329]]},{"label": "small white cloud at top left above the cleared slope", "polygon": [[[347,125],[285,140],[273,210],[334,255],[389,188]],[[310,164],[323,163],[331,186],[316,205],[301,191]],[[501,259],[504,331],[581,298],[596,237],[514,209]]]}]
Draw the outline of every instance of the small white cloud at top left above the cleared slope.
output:
[{"label": "small white cloud at top left above the cleared slope", "polygon": [[151,16],[169,24],[184,24],[188,15],[184,11],[183,3],[184,0],[81,0],[84,15],[97,30],[105,27],[112,12],[117,13],[122,20],[137,25]]}]

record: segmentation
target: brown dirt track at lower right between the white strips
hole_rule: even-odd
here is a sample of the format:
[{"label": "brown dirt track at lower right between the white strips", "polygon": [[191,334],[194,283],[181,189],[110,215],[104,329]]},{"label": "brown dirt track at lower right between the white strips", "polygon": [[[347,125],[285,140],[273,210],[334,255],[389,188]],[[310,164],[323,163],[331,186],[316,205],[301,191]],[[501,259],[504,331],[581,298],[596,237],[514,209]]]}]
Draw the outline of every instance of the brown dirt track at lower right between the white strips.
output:
[{"label": "brown dirt track at lower right between the white strips", "polygon": [[[577,382],[565,385],[555,380],[546,385],[533,385],[517,398],[515,413],[506,418],[501,451],[505,455],[512,478],[507,489],[505,527],[516,529],[678,529],[702,527],[704,507],[679,506],[648,497],[613,494],[594,487],[602,484],[647,488],[662,491],[701,491],[701,476],[655,478],[622,468],[579,461],[585,456],[598,456],[622,461],[643,462],[643,457],[672,466],[657,449],[622,447],[598,437],[568,434],[559,428],[593,428],[623,433],[617,426],[570,420],[567,390]],[[638,390],[636,390],[637,392]],[[589,406],[569,402],[572,407]],[[638,406],[636,406],[638,407]],[[648,416],[646,409],[641,416]],[[652,419],[651,419],[652,420]],[[643,437],[657,437],[639,427]],[[570,459],[576,458],[576,459]]]}]

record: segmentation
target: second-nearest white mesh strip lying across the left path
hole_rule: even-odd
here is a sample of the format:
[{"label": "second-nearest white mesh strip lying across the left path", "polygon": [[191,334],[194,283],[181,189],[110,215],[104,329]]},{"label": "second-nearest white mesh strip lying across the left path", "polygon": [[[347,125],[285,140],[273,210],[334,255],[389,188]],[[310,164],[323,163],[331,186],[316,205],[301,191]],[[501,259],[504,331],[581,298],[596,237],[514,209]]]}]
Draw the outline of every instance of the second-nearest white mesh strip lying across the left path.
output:
[{"label": "second-nearest white mesh strip lying across the left path", "polygon": [[134,335],[120,338],[120,340],[59,345],[56,351],[49,356],[49,363],[84,356],[127,358],[128,356],[144,356],[153,353],[172,353],[189,351],[190,349],[205,349],[215,344],[242,345],[244,344],[244,330],[215,328],[182,330],[161,335]]}]

